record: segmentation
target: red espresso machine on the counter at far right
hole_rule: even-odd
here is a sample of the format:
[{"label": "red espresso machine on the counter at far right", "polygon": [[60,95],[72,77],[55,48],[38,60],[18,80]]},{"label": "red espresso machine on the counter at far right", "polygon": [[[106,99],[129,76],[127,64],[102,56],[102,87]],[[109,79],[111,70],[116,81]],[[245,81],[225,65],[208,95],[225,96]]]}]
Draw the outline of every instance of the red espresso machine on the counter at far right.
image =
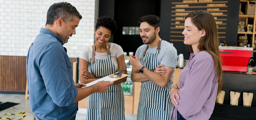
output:
[{"label": "red espresso machine on the counter at far right", "polygon": [[223,71],[247,72],[253,48],[219,46]]}]

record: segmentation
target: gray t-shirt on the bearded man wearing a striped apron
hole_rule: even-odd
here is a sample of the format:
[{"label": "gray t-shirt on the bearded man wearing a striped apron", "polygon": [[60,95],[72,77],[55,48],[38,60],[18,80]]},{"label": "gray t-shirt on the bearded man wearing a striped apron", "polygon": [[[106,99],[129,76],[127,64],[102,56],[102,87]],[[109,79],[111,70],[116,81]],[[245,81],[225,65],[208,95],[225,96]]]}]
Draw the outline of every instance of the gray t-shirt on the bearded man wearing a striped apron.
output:
[{"label": "gray t-shirt on the bearded man wearing a striped apron", "polygon": [[[139,58],[139,60],[141,60],[141,57],[146,49],[147,45],[141,45],[136,53],[135,56],[137,56]],[[152,54],[156,54],[156,47],[154,48],[147,48],[148,53],[152,53]],[[170,44],[170,42],[167,42],[165,40],[161,40],[161,46],[160,46],[160,51],[159,51],[159,56],[158,56],[158,61],[159,61],[159,65],[164,65],[166,67],[173,67],[173,75],[174,75],[174,71],[177,65],[177,50],[176,48]],[[171,76],[170,80],[173,81],[173,75]]]}]

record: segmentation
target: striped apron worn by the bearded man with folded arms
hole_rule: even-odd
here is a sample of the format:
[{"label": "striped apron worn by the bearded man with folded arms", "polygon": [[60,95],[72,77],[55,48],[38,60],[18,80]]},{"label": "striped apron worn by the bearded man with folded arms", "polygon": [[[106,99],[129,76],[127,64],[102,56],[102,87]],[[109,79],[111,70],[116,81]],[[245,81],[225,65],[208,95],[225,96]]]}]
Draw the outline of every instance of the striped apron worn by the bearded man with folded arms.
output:
[{"label": "striped apron worn by the bearded man with folded arms", "polygon": [[[158,42],[156,54],[147,53],[147,48],[141,57],[141,64],[154,72],[159,65],[158,56],[161,40]],[[148,47],[148,46],[147,46]],[[161,88],[150,80],[141,83],[141,93],[138,105],[137,120],[169,120],[171,113],[170,80],[165,88]]]}]

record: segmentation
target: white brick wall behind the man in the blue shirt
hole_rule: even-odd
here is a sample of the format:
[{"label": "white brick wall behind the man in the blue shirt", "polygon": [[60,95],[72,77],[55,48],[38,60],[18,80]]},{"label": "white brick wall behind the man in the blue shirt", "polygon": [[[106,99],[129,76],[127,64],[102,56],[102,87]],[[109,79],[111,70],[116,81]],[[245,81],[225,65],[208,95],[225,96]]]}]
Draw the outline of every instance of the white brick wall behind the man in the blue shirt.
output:
[{"label": "white brick wall behind the man in the blue shirt", "polygon": [[[28,48],[45,28],[49,7],[64,0],[0,0],[0,55],[27,56]],[[65,0],[66,1],[66,0]],[[99,0],[67,0],[83,16],[64,47],[69,57],[79,57],[85,46],[94,44]]]}]

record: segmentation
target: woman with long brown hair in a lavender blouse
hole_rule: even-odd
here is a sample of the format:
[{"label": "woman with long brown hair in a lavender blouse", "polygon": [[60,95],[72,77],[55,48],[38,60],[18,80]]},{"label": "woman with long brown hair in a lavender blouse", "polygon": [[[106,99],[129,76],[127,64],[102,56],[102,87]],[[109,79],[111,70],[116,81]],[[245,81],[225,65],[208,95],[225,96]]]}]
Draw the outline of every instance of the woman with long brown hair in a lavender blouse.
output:
[{"label": "woman with long brown hair in a lavender blouse", "polygon": [[222,86],[217,27],[211,13],[198,10],[185,16],[184,44],[191,55],[170,90],[172,120],[208,120]]}]

